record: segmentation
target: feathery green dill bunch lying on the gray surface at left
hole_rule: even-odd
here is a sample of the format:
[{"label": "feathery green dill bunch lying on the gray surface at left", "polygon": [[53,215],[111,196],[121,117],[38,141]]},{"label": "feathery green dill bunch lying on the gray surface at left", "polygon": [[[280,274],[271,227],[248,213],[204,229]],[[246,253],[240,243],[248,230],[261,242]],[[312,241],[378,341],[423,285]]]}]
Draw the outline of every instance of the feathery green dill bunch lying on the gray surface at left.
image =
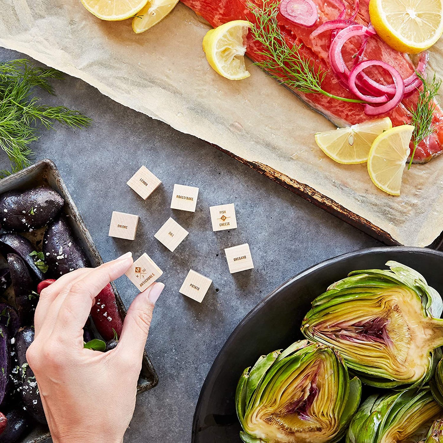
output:
[{"label": "feathery green dill bunch lying on the gray surface at left", "polygon": [[0,171],[2,177],[31,165],[34,153],[30,145],[39,139],[39,126],[54,129],[57,122],[84,128],[91,123],[78,111],[41,105],[40,99],[33,96],[35,87],[54,95],[49,80],[62,78],[62,72],[33,66],[26,59],[0,64],[0,148],[11,162],[11,171]]}]

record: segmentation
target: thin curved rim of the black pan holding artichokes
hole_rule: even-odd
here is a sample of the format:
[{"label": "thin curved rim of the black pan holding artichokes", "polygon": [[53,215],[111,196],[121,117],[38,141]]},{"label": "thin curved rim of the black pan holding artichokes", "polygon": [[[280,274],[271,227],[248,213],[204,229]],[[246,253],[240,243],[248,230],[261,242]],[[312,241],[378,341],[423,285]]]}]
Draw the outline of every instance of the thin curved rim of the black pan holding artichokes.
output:
[{"label": "thin curved rim of the black pan holding artichokes", "polygon": [[226,340],[225,344],[223,345],[223,347],[221,348],[221,350],[217,354],[217,357],[215,358],[215,360],[211,366],[211,369],[209,370],[208,374],[206,375],[205,381],[203,382],[203,385],[202,385],[202,389],[200,389],[200,394],[198,396],[197,406],[195,407],[195,412],[194,412],[194,419],[192,420],[192,439],[191,439],[191,441],[194,442],[194,430],[197,425],[196,421],[197,421],[197,416],[199,415],[198,413],[199,413],[200,404],[201,404],[201,400],[202,400],[201,394],[204,391],[204,389],[206,388],[206,384],[208,383],[208,380],[211,378],[211,375],[212,375],[213,371],[215,370],[214,368],[217,366],[217,361],[220,358],[221,354],[223,353],[225,348],[227,348],[230,345],[230,343],[233,341],[233,339],[237,336],[238,331],[242,328],[244,323],[246,323],[249,320],[249,317],[253,316],[256,313],[256,311],[258,311],[263,305],[267,304],[272,299],[272,297],[274,297],[274,295],[276,295],[277,293],[279,293],[281,291],[281,289],[292,284],[295,280],[299,280],[300,278],[308,275],[309,273],[316,271],[317,269],[325,268],[325,267],[329,266],[330,264],[337,263],[338,261],[346,260],[347,258],[350,258],[350,257],[357,257],[357,256],[367,255],[367,254],[371,254],[371,253],[378,253],[378,252],[390,253],[390,252],[399,251],[399,250],[404,251],[404,252],[416,252],[419,254],[433,254],[433,255],[438,255],[438,256],[443,257],[443,252],[441,252],[441,251],[435,251],[433,249],[427,249],[427,248],[417,248],[417,247],[413,247],[413,246],[389,246],[389,247],[388,246],[381,246],[381,247],[377,247],[377,248],[359,249],[354,252],[341,254],[341,255],[335,256],[333,258],[330,258],[328,260],[321,261],[320,263],[315,264],[314,266],[311,266],[310,268],[307,268],[304,271],[300,272],[299,274],[295,275],[294,277],[290,278],[289,280],[287,280],[286,282],[281,284],[278,288],[274,289],[274,291],[272,291],[270,294],[266,295],[266,297],[263,300],[261,300],[260,303],[258,303],[255,307],[253,307],[253,309],[251,309],[251,311],[249,311],[249,313],[245,315],[245,317],[241,320],[241,322],[237,325],[237,327],[232,331],[232,333],[229,335],[228,339]]}]

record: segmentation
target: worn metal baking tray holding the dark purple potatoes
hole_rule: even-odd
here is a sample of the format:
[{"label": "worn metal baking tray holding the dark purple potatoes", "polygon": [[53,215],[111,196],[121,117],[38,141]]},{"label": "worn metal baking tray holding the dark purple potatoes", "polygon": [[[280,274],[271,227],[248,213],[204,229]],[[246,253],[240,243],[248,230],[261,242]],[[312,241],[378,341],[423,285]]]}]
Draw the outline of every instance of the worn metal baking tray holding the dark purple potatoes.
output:
[{"label": "worn metal baking tray holding the dark purple potatoes", "polygon": [[[72,200],[57,167],[51,160],[41,160],[38,163],[17,172],[16,174],[0,180],[0,194],[3,194],[9,190],[28,189],[43,185],[49,186],[56,190],[64,198],[65,205],[63,206],[62,210],[65,214],[70,215],[70,217],[67,218],[67,221],[69,221],[70,227],[73,230],[75,237],[78,239],[79,244],[82,246],[94,267],[102,264],[103,260],[94,245],[93,239],[86,228],[85,222],[83,221],[82,216],[79,214],[77,206],[75,206],[75,203]],[[112,286],[116,295],[118,310],[121,317],[124,319],[126,316],[126,308],[120,298],[120,295],[118,294],[117,288],[114,284],[112,284]],[[157,385],[157,383],[157,373],[155,372],[154,366],[152,365],[148,354],[146,351],[144,351],[142,369],[137,384],[137,393],[152,389],[155,385]],[[50,436],[51,435],[47,427],[38,425],[24,439],[21,440],[21,443],[43,442]]]}]

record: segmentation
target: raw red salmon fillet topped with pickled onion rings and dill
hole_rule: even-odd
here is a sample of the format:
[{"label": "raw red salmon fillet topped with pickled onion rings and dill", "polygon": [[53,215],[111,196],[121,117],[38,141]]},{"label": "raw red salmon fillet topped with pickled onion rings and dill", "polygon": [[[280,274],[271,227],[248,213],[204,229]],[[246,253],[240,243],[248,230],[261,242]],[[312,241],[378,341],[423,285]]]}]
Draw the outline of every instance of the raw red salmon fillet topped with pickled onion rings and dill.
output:
[{"label": "raw red salmon fillet topped with pickled onion rings and dill", "polygon": [[[181,0],[198,15],[206,19],[212,26],[217,27],[231,20],[249,20],[256,23],[256,18],[249,10],[247,4],[254,4],[262,8],[262,0]],[[279,0],[271,0],[278,3]],[[319,20],[314,27],[307,28],[292,23],[280,13],[277,16],[280,30],[285,37],[288,45],[302,45],[300,54],[305,59],[309,59],[314,70],[322,70],[326,73],[322,87],[329,93],[339,97],[355,98],[354,95],[339,84],[337,78],[332,73],[329,63],[329,47],[331,40],[331,31],[323,32],[320,35],[311,38],[311,33],[322,23],[337,19],[342,8],[329,0],[314,0],[319,12]],[[350,0],[344,0],[346,5],[346,17],[352,15],[354,5]],[[355,19],[362,25],[369,24],[369,0],[360,1],[360,9]],[[261,43],[253,39],[249,32],[247,38],[246,54],[255,62],[264,59],[260,52],[264,51]],[[342,54],[348,66],[352,66],[352,56],[358,52],[360,40],[351,38],[343,48]],[[407,54],[402,54],[378,38],[377,35],[370,37],[363,54],[363,60],[382,60],[392,65],[403,78],[408,78],[415,71],[415,66]],[[378,82],[385,84],[392,83],[392,77],[382,69],[371,68],[370,77]],[[283,75],[282,75],[283,77]],[[378,116],[368,116],[364,113],[364,106],[359,103],[349,103],[329,98],[319,93],[300,93],[293,91],[303,102],[309,105],[315,111],[323,114],[328,120],[339,127],[349,126],[356,123],[362,123],[367,120],[389,117],[393,126],[411,123],[411,114],[408,109],[413,108],[417,102],[418,91],[404,100],[392,109],[389,113]],[[418,145],[414,163],[427,163],[433,157],[443,152],[443,112],[439,105],[435,103],[434,112],[435,132],[424,139]],[[412,151],[412,146],[411,146]]]}]

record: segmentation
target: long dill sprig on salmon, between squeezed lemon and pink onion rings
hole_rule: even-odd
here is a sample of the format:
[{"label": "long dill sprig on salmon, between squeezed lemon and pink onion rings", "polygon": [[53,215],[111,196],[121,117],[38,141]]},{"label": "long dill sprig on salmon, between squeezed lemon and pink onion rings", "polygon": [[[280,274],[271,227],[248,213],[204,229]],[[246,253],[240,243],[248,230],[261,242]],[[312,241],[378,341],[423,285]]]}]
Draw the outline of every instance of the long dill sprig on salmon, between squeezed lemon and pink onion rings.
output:
[{"label": "long dill sprig on salmon, between squeezed lemon and pink onion rings", "polygon": [[286,43],[277,22],[278,5],[270,0],[264,0],[262,8],[252,3],[247,4],[256,18],[256,23],[250,22],[251,33],[265,48],[265,51],[259,52],[264,60],[254,64],[289,89],[296,89],[301,93],[319,93],[341,101],[365,103],[354,98],[338,97],[322,88],[326,73],[320,68],[315,70],[311,60],[303,58],[300,54],[302,45],[290,47]]}]

